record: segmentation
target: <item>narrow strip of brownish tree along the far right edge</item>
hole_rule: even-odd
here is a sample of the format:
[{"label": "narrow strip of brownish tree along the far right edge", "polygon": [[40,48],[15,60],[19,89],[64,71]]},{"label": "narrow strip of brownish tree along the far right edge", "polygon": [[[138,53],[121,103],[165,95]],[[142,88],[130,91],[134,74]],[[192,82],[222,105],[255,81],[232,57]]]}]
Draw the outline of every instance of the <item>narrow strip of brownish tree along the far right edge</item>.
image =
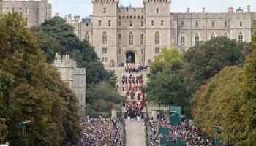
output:
[{"label": "narrow strip of brownish tree along the far right edge", "polygon": [[244,68],[245,76],[245,93],[241,114],[246,115],[244,118],[244,138],[241,145],[256,145],[256,32],[254,32],[251,42],[252,53],[246,58]]}]

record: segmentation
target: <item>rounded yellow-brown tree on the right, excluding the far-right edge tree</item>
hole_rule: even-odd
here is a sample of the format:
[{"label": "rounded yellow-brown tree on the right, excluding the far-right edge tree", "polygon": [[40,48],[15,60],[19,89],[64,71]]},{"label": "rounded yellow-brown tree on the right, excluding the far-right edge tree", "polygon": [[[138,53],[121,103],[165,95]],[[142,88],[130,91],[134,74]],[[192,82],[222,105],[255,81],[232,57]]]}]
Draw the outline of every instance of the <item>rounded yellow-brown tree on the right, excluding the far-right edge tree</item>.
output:
[{"label": "rounded yellow-brown tree on the right, excluding the far-right edge tree", "polygon": [[[238,126],[244,117],[239,112],[243,87],[242,69],[231,66],[223,69],[203,85],[192,98],[192,115],[201,131],[214,137],[212,126],[222,126],[222,134],[237,140]],[[235,120],[236,119],[236,120]],[[239,120],[238,120],[239,119]],[[223,137],[225,141],[226,137]]]}]

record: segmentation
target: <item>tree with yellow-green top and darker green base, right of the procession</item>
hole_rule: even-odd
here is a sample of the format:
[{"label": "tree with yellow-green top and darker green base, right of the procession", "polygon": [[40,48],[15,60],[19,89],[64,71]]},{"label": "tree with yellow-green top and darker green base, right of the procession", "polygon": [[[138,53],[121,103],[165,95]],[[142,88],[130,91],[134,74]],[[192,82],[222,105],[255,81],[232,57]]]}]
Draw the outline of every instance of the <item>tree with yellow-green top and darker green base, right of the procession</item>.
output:
[{"label": "tree with yellow-green top and darker green base, right of the procession", "polygon": [[151,65],[151,74],[146,85],[147,99],[160,105],[186,105],[186,91],[182,85],[180,70],[184,55],[176,48],[162,48]]}]

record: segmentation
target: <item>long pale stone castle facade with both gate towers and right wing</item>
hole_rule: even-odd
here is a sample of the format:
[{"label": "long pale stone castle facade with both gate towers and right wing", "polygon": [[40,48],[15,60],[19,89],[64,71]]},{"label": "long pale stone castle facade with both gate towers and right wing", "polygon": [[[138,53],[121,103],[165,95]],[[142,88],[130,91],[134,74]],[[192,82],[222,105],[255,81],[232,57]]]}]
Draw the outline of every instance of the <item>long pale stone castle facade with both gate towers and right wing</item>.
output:
[{"label": "long pale stone castle facade with both gate towers and right wing", "polygon": [[[242,35],[240,41],[250,42],[256,23],[256,13],[251,12],[249,6],[246,10],[238,11],[229,8],[227,13],[208,13],[206,9],[200,13],[189,12],[189,9],[186,13],[170,13],[170,0],[143,0],[143,8],[121,7],[118,2],[92,0],[93,15],[82,21],[72,21],[71,15],[66,18],[67,23],[74,26],[78,37],[88,39],[102,63],[108,67],[125,63],[128,50],[136,53],[136,63],[150,64],[158,54],[157,49],[177,47],[185,51],[195,45],[196,35],[199,41],[210,40],[213,36],[238,40]],[[103,32],[108,34],[107,44],[102,43]],[[154,38],[157,32],[159,44],[155,43]],[[129,45],[131,33],[133,44]],[[102,48],[107,48],[107,53],[103,53]]]}]

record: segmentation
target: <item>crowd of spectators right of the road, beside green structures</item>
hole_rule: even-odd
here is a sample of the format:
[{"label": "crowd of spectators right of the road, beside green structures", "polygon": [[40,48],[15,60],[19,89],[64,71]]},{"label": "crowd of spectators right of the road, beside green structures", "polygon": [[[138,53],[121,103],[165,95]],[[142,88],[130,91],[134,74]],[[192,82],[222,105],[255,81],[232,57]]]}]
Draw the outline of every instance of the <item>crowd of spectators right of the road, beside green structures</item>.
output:
[{"label": "crowd of spectators right of the road, beside green structures", "polygon": [[[169,137],[182,137],[187,146],[214,146],[214,142],[211,139],[204,138],[199,131],[195,130],[192,120],[186,119],[181,122],[181,125],[174,126],[163,118],[159,120],[159,126],[169,129]],[[173,139],[173,142],[176,142],[175,139]]]}]

